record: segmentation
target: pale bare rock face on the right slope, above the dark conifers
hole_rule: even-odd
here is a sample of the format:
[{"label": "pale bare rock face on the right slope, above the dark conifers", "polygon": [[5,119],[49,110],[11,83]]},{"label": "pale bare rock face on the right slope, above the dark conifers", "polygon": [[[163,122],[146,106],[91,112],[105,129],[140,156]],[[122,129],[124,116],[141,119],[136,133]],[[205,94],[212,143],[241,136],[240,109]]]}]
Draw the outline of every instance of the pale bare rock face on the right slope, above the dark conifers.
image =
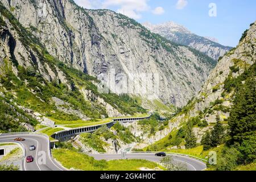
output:
[{"label": "pale bare rock face on the right slope, above the dark conifers", "polygon": [[[185,106],[181,114],[173,118],[171,122],[179,122],[179,125],[189,121],[193,117],[199,117],[209,124],[221,122],[229,118],[230,108],[233,105],[235,93],[226,92],[225,81],[228,78],[241,76],[246,69],[256,62],[256,22],[250,25],[245,37],[238,46],[218,62],[216,68],[210,73],[200,93]],[[243,84],[243,83],[242,83]],[[207,127],[194,127],[197,142],[201,141],[205,131],[212,129]]]}]

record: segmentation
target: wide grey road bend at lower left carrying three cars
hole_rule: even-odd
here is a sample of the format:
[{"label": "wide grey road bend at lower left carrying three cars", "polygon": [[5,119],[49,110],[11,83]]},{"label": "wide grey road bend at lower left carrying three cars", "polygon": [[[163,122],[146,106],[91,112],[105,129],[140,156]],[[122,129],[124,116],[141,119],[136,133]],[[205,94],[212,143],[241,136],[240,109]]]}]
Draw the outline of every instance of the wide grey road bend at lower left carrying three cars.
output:
[{"label": "wide grey road bend at lower left carrying three cars", "polygon": [[[14,138],[22,137],[25,140],[22,142],[14,141]],[[18,135],[0,135],[1,142],[15,142],[23,146],[25,156],[32,155],[34,162],[26,163],[26,158],[23,160],[24,171],[63,171],[65,170],[59,164],[54,162],[49,152],[48,139],[43,135],[29,135],[29,134],[18,134]],[[36,148],[34,151],[30,151],[29,147],[34,145]]]}]

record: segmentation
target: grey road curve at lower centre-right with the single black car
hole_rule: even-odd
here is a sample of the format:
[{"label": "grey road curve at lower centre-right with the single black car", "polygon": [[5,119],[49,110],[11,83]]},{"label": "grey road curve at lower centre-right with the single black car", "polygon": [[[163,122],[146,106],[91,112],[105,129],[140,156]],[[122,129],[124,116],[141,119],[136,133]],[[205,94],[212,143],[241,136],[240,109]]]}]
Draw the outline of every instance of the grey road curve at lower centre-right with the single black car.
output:
[{"label": "grey road curve at lower centre-right with the single black car", "polygon": [[[115,160],[122,159],[121,154],[88,154],[89,156],[93,156],[97,160]],[[206,168],[206,165],[200,160],[196,160],[193,158],[188,158],[187,156],[180,156],[174,154],[168,154],[172,156],[174,159],[174,164],[181,164],[186,167],[188,171],[202,171]],[[148,153],[132,153],[126,154],[127,159],[145,159],[150,160],[152,162],[160,162],[162,157],[155,156],[155,154]]]}]

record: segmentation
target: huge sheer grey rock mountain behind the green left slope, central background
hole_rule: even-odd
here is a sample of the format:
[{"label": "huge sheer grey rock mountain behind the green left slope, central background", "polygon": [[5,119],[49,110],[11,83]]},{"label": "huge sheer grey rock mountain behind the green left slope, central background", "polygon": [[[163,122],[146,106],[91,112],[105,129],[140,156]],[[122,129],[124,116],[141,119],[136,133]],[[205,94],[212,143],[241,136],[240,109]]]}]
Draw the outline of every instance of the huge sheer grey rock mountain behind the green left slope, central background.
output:
[{"label": "huge sheer grey rock mountain behind the green left slope, central background", "polygon": [[[216,65],[215,60],[199,51],[171,43],[135,20],[110,10],[82,9],[72,0],[1,3],[49,55],[68,67],[105,80],[106,86],[117,94],[127,93],[122,88],[128,82],[129,94],[141,86],[143,92],[139,93],[144,99],[184,106]],[[13,49],[19,64],[27,67],[20,56],[24,50]],[[149,75],[147,79],[145,74]],[[152,78],[152,74],[156,77]],[[108,76],[114,77],[112,85]],[[143,88],[146,80],[157,84]]]}]

